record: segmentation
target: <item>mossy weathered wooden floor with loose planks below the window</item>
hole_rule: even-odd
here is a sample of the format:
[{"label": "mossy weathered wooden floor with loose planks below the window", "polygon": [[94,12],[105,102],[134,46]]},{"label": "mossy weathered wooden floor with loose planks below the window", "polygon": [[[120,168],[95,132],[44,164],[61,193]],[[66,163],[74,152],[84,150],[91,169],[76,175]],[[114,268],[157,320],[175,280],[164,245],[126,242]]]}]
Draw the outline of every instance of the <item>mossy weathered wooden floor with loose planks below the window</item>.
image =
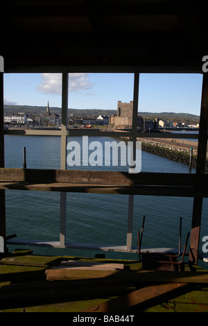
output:
[{"label": "mossy weathered wooden floor with loose planks below the window", "polygon": [[[0,282],[4,282],[0,284],[1,311],[91,312],[96,309],[106,312],[138,312],[152,307],[157,311],[159,302],[168,304],[173,298],[178,298],[178,302],[181,302],[183,295],[187,296],[189,292],[191,294],[185,300],[184,311],[191,309],[192,306],[193,309],[198,309],[197,311],[206,311],[208,307],[206,291],[208,272],[197,266],[194,273],[141,270],[140,273],[141,263],[138,261],[67,257],[67,260],[76,261],[78,265],[124,264],[130,270],[73,270],[70,277],[68,275],[65,278],[67,282],[63,278],[58,278],[58,282],[55,280],[48,282],[45,271],[53,271],[51,268],[61,264],[66,257],[33,256],[28,255],[27,250],[26,255],[16,256],[18,253],[20,254],[19,250],[15,250],[14,255],[3,258],[1,261],[3,264],[0,264]],[[37,267],[39,265],[44,267]],[[195,296],[196,288],[198,297]],[[205,291],[202,292],[202,289]],[[204,295],[203,300],[201,295]],[[66,304],[62,306],[62,302]],[[163,306],[162,304],[159,307]],[[176,305],[174,309],[177,311]]]}]

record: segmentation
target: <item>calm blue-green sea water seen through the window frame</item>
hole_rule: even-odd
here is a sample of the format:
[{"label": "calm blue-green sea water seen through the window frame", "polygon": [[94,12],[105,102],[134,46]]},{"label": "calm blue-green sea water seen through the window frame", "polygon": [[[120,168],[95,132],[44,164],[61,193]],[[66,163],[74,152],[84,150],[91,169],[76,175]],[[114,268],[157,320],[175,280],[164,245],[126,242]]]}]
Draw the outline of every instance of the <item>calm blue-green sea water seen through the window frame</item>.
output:
[{"label": "calm blue-green sea water seen through the window frame", "polygon": [[[68,141],[80,141],[73,137]],[[89,137],[89,141],[98,140]],[[101,141],[112,141],[101,137]],[[23,167],[26,147],[28,169],[60,169],[60,137],[5,137],[6,167]],[[141,171],[189,173],[189,166],[142,151]],[[75,167],[77,169],[78,167]],[[69,169],[69,167],[68,167]],[[74,169],[71,168],[71,169]],[[86,169],[84,167],[83,169]],[[92,169],[89,166],[88,169]],[[96,166],[95,169],[101,169]],[[106,169],[103,166],[102,169]],[[110,168],[109,168],[110,169]],[[112,168],[111,168],[112,169]],[[116,167],[123,170],[123,166]],[[125,169],[128,169],[126,167]],[[194,173],[195,170],[192,170]],[[166,196],[135,196],[132,245],[137,246],[137,230],[146,216],[144,247],[177,248],[179,221],[182,216],[182,243],[191,230],[193,198]],[[202,210],[201,239],[208,235],[208,200]],[[67,194],[67,241],[125,245],[128,221],[128,196],[108,194]],[[44,191],[6,191],[7,234],[18,238],[58,241],[60,232],[60,193]],[[200,246],[202,248],[202,241]],[[10,246],[11,250],[15,249]],[[33,247],[41,255],[92,256],[99,252]],[[109,258],[137,259],[135,254],[104,252]],[[201,263],[199,263],[201,264]]]}]

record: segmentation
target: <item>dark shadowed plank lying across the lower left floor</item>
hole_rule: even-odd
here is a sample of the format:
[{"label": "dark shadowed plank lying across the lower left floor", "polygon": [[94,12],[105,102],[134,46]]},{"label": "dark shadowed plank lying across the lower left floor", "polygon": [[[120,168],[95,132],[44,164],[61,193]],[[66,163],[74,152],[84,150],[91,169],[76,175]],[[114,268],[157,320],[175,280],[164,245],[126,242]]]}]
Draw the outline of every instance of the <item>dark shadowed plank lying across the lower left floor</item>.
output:
[{"label": "dark shadowed plank lying across the lower left floor", "polygon": [[[122,295],[136,289],[130,283],[86,283],[86,282],[28,282],[9,284],[0,287],[1,309],[28,307],[31,305],[50,304],[89,298],[103,298],[103,296]],[[31,295],[33,293],[33,295]],[[70,306],[70,302],[69,302]],[[85,306],[84,306],[85,307]]]}]

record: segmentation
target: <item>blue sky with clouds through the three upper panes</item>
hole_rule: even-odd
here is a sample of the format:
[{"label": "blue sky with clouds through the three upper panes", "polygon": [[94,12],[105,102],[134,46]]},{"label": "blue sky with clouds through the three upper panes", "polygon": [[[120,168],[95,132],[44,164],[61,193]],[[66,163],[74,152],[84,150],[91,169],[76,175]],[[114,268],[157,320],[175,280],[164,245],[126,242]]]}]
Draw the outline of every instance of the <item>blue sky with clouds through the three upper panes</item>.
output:
[{"label": "blue sky with clouds through the three upper panes", "polygon": [[[133,74],[69,74],[69,108],[113,109],[133,100]],[[200,114],[202,74],[140,74],[139,112]],[[4,104],[61,107],[60,74],[4,74]]]}]

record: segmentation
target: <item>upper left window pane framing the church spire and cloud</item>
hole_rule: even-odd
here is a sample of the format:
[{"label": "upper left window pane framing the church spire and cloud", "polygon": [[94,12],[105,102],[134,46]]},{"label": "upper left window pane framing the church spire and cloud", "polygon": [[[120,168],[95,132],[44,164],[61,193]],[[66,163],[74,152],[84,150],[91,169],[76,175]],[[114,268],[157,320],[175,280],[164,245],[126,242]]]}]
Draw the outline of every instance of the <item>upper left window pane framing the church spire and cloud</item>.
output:
[{"label": "upper left window pane framing the church spire and cloud", "polygon": [[4,74],[4,126],[59,129],[62,74]]}]

